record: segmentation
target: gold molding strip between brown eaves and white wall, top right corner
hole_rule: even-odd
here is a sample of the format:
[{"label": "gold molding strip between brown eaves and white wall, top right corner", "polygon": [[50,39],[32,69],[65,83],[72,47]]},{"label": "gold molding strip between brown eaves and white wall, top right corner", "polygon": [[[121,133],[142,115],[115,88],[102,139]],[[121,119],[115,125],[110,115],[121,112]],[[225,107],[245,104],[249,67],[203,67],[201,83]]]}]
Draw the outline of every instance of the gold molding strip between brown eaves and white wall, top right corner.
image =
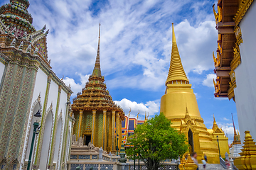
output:
[{"label": "gold molding strip between brown eaves and white wall, top right corner", "polygon": [[235,17],[234,17],[235,26],[238,26],[238,24],[242,20],[242,17],[245,16],[245,13],[247,12],[248,8],[250,8],[250,5],[252,4],[252,2],[253,0],[239,1],[238,12],[235,14]]}]

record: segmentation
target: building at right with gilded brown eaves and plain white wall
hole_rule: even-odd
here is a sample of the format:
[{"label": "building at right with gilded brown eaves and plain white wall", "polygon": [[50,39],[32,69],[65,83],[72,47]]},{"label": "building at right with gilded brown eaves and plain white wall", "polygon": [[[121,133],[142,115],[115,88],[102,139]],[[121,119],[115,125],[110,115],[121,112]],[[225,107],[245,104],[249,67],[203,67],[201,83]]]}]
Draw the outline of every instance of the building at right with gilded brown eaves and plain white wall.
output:
[{"label": "building at right with gilded brown eaves and plain white wall", "polygon": [[[215,97],[235,101],[241,142],[249,130],[256,140],[256,2],[218,0],[213,13],[218,30]],[[243,144],[242,144],[243,145]]]}]

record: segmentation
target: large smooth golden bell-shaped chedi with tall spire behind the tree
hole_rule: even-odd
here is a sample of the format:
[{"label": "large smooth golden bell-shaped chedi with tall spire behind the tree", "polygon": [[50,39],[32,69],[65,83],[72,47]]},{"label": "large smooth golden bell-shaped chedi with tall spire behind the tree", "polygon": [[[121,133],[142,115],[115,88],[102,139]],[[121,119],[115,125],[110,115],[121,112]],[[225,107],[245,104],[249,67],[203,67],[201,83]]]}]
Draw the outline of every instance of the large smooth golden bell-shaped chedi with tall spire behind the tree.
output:
[{"label": "large smooth golden bell-shaped chedi with tall spire behind the tree", "polygon": [[203,154],[206,154],[208,163],[218,164],[220,162],[218,146],[213,143],[206,125],[203,124],[196,96],[193,94],[193,89],[191,89],[191,84],[189,84],[181,64],[174,24],[172,29],[171,64],[166,80],[166,91],[161,97],[160,112],[171,120],[172,128],[176,128],[186,135],[190,153],[197,152],[198,160],[201,160]]}]

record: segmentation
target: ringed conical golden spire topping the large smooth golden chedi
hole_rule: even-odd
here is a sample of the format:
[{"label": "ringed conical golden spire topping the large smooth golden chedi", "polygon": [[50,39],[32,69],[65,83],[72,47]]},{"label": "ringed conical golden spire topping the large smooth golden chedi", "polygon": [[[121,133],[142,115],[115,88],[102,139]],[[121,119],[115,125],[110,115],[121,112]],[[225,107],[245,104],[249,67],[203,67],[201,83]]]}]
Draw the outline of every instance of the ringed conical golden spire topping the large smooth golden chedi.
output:
[{"label": "ringed conical golden spire topping the large smooth golden chedi", "polygon": [[[181,63],[181,57],[178,53],[178,46],[174,33],[174,23],[172,23],[171,63],[166,84],[172,84],[171,81],[186,81],[186,84],[189,84],[188,78],[186,77],[186,73]],[[173,83],[176,84],[176,82]]]}]

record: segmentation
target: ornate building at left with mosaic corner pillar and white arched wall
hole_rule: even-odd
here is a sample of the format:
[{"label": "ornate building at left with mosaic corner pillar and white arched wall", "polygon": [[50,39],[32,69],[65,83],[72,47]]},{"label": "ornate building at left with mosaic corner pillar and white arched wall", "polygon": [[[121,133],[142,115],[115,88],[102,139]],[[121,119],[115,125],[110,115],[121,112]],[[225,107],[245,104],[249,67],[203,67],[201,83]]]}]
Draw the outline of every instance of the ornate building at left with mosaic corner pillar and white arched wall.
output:
[{"label": "ornate building at left with mosaic corner pillar and white arched wall", "polygon": [[0,8],[0,169],[27,169],[30,152],[30,169],[66,169],[73,92],[52,71],[48,31],[33,28],[28,6],[11,0]]}]

